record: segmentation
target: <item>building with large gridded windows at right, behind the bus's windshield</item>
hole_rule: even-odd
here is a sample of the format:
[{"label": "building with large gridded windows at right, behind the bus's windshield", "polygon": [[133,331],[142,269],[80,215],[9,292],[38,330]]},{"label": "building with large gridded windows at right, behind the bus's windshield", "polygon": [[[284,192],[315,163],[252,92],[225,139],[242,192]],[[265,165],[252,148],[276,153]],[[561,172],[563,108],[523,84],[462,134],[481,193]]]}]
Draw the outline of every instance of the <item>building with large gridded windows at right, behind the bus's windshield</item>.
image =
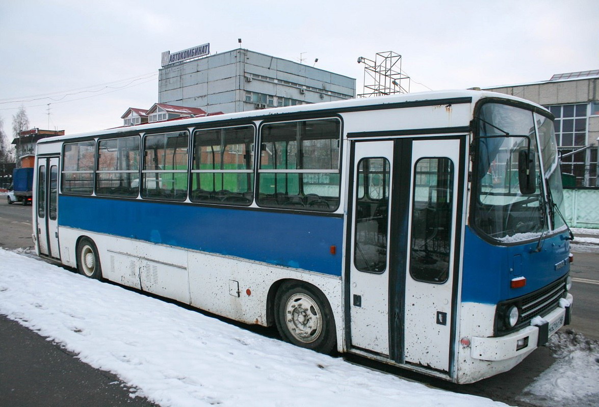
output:
[{"label": "building with large gridded windows at right, behind the bus's windshield", "polygon": [[548,81],[486,88],[543,105],[555,116],[562,172],[576,186],[599,187],[599,69],[556,74]]}]

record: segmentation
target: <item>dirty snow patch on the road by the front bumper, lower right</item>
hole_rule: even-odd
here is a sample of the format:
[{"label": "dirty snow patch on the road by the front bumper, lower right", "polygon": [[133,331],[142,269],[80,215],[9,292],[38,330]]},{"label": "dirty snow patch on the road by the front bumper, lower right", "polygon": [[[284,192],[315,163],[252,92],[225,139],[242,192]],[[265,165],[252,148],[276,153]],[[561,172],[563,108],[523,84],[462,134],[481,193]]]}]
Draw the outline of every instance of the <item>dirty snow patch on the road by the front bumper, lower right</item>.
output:
[{"label": "dirty snow patch on the road by the front bumper, lower right", "polygon": [[547,346],[558,360],[518,400],[540,407],[599,406],[599,341],[568,329],[553,335]]}]

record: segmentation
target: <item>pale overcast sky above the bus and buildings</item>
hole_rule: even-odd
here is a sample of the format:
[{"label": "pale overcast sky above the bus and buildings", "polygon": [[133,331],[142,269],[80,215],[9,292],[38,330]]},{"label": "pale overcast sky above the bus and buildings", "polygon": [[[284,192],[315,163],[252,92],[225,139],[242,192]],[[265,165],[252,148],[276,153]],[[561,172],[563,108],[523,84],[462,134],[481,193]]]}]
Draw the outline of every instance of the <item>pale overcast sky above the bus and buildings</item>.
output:
[{"label": "pale overcast sky above the bus and buildings", "polygon": [[[402,56],[412,92],[599,69],[597,0],[0,1],[0,117],[79,133],[158,102],[162,51],[210,42],[357,79],[359,56]],[[49,105],[50,104],[50,105]],[[48,110],[50,115],[48,115]]]}]

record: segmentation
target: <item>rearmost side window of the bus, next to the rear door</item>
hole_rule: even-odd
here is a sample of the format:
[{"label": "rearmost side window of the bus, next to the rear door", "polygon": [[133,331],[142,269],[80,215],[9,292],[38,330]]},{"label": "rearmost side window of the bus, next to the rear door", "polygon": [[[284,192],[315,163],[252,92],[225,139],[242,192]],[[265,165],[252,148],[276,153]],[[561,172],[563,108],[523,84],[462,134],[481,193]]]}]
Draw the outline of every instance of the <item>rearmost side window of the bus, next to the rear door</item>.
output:
[{"label": "rearmost side window of the bus, next to the rear door", "polygon": [[63,146],[62,192],[92,195],[96,142],[81,141]]}]

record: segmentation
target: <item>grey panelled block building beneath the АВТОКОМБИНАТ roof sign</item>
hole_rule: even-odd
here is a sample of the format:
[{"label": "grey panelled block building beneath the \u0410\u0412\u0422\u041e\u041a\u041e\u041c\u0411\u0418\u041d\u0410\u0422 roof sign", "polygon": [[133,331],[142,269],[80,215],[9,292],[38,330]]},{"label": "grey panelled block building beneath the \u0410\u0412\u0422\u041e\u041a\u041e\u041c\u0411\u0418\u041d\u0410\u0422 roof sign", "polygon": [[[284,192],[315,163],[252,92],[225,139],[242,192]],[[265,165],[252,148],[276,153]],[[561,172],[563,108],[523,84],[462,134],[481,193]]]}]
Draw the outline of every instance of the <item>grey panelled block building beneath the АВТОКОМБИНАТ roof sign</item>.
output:
[{"label": "grey panelled block building beneath the \u0410\u0412\u0422\u041e\u041a\u041e\u041c\u0411\u0418\u041d\u0410\u0422 roof sign", "polygon": [[159,102],[233,113],[351,99],[356,80],[313,66],[238,48],[166,65]]}]

